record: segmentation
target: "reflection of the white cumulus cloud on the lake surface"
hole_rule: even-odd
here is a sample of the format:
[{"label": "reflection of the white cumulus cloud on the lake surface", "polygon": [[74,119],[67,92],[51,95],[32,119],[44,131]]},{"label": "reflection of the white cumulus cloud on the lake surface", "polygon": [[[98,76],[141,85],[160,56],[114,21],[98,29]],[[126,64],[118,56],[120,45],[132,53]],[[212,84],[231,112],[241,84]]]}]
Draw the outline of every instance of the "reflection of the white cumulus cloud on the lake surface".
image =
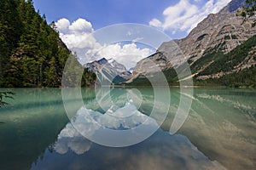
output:
[{"label": "reflection of the white cumulus cloud on the lake surface", "polygon": [[[88,137],[89,139],[93,139],[95,133],[106,134],[109,132],[109,129],[123,130],[123,128],[125,128],[132,130],[138,126],[158,127],[157,122],[155,122],[152,117],[146,116],[142,112],[137,111],[137,106],[134,105],[132,100],[125,103],[123,107],[109,105],[108,111],[104,114],[99,111],[87,109],[83,106],[79,111],[77,111],[75,117],[76,118],[73,119],[71,123],[80,134]],[[63,132],[61,131],[58,139],[78,137],[77,131],[74,131],[73,128],[70,127],[71,126],[62,130]],[[62,152],[67,150],[62,149],[64,147],[60,148]]]}]

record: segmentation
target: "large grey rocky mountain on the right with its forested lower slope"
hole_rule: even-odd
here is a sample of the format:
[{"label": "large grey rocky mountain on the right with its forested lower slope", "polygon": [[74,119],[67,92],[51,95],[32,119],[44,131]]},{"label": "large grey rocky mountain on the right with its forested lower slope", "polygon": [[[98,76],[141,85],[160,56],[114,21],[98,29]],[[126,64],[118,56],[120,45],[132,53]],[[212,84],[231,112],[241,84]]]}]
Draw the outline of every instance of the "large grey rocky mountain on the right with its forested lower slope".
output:
[{"label": "large grey rocky mountain on the right with its forested lower slope", "polygon": [[[185,60],[189,63],[195,84],[207,84],[205,82],[208,79],[220,79],[225,75],[244,72],[245,69],[254,67],[255,46],[250,43],[253,40],[248,39],[256,35],[256,27],[251,26],[255,17],[243,23],[242,18],[236,16],[237,9],[245,4],[245,0],[233,0],[218,14],[209,14],[188,37],[162,43],[155,54],[137,63],[127,83],[148,83],[144,75],[154,74],[151,67],[155,65],[164,72],[170,84],[176,85],[178,82],[174,68],[180,67]],[[239,53],[236,49],[238,47],[239,50],[247,51]],[[227,56],[230,58],[226,59]],[[236,64],[233,62],[234,59],[237,60]],[[223,60],[224,63],[220,64],[219,60]],[[233,64],[230,65],[230,62]],[[219,67],[218,70],[212,71],[212,65],[221,65],[223,70]],[[233,84],[234,81],[230,83]],[[226,85],[221,81],[213,82]]]}]

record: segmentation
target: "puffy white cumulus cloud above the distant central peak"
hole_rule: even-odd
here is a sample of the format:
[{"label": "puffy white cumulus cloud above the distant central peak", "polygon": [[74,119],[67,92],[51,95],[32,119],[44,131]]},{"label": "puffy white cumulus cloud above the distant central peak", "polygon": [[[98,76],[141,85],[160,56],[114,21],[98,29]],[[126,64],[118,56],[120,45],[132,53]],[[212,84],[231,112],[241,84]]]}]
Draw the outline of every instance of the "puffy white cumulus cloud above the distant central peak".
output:
[{"label": "puffy white cumulus cloud above the distant central peak", "polygon": [[81,64],[86,64],[97,59],[115,59],[126,66],[127,69],[135,66],[137,62],[147,57],[152,51],[149,48],[138,48],[137,38],[131,43],[101,44],[93,37],[94,31],[91,23],[84,19],[70,21],[67,19],[58,20],[55,23],[60,37],[66,43],[67,48],[78,55]]}]

